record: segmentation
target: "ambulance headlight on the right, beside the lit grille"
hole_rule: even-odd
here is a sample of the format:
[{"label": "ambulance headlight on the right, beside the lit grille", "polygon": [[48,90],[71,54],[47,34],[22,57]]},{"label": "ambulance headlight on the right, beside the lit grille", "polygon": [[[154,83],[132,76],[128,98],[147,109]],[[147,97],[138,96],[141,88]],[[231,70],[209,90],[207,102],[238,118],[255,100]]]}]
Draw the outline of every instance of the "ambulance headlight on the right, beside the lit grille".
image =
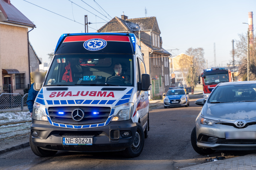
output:
[{"label": "ambulance headlight on the right, beside the lit grille", "polygon": [[111,121],[129,120],[132,116],[133,103],[125,103],[120,106],[116,106],[113,118]]}]

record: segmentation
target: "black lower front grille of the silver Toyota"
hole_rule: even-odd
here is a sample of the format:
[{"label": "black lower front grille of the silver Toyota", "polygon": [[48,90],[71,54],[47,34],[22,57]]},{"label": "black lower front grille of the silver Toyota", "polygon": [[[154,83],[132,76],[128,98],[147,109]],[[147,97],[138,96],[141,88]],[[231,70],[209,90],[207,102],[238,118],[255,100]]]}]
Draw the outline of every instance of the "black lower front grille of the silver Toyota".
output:
[{"label": "black lower front grille of the silver Toyota", "polygon": [[252,139],[225,139],[208,135],[199,135],[198,142],[208,144],[256,144]]}]

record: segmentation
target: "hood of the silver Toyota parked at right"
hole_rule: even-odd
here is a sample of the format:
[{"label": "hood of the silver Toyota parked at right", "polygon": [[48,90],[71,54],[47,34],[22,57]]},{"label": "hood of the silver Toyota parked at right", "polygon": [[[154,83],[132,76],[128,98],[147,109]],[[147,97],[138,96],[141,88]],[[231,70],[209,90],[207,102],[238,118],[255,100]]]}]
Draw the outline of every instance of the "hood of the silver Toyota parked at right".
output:
[{"label": "hood of the silver Toyota parked at right", "polygon": [[206,103],[203,116],[221,120],[254,120],[256,119],[256,102]]}]

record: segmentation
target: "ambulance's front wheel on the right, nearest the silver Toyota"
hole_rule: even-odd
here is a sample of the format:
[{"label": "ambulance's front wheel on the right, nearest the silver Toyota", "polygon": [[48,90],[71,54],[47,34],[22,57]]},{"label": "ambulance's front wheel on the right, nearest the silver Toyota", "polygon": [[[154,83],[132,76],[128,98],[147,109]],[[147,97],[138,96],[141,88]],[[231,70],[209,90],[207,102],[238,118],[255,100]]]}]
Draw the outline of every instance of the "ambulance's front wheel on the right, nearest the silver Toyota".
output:
[{"label": "ambulance's front wheel on the right, nearest the silver Toyota", "polygon": [[137,157],[140,156],[143,147],[144,147],[144,132],[143,132],[143,127],[141,126],[140,123],[138,123],[137,125],[137,130],[136,130],[136,134],[134,137],[134,142],[133,144],[126,148],[123,151],[123,155],[125,157]]}]

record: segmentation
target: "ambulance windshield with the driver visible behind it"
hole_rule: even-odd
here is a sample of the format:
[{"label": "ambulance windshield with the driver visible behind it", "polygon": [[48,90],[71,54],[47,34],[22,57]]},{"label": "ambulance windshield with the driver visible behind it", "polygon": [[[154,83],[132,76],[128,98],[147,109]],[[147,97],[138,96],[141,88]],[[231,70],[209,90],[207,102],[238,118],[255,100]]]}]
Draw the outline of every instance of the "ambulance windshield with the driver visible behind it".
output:
[{"label": "ambulance windshield with the driver visible behind it", "polygon": [[45,86],[132,86],[133,55],[55,55]]}]

